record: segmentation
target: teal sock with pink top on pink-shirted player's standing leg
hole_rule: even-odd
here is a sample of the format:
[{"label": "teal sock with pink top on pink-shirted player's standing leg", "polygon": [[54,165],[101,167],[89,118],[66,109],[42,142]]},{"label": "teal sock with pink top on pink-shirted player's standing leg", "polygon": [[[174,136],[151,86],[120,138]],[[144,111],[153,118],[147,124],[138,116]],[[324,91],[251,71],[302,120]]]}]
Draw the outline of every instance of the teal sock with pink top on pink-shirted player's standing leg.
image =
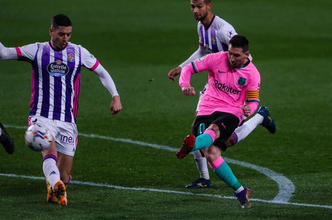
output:
[{"label": "teal sock with pink top on pink-shirted player's standing leg", "polygon": [[209,163],[210,167],[219,178],[221,178],[234,191],[238,190],[242,185],[234,176],[232,170],[220,156],[216,161]]}]

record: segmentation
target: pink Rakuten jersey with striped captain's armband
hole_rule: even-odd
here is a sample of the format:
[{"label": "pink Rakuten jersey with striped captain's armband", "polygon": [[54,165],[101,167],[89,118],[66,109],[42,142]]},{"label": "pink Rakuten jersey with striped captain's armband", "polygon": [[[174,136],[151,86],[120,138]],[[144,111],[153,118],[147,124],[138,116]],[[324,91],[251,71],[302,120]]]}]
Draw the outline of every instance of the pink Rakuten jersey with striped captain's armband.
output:
[{"label": "pink Rakuten jersey with striped captain's armband", "polygon": [[208,86],[197,116],[223,111],[234,114],[241,122],[245,101],[251,108],[251,114],[257,109],[260,74],[250,61],[242,68],[231,68],[228,52],[209,54],[182,69],[180,87],[190,86],[191,75],[205,70],[208,70]]}]

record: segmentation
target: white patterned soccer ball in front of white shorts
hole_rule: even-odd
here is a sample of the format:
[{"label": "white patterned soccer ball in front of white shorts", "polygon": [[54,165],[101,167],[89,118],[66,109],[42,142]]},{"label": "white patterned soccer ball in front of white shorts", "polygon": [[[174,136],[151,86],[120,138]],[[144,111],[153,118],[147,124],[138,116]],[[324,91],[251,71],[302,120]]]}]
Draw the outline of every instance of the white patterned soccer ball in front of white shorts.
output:
[{"label": "white patterned soccer ball in front of white shorts", "polygon": [[25,132],[25,143],[31,150],[43,151],[48,149],[52,143],[52,135],[48,128],[34,124]]}]

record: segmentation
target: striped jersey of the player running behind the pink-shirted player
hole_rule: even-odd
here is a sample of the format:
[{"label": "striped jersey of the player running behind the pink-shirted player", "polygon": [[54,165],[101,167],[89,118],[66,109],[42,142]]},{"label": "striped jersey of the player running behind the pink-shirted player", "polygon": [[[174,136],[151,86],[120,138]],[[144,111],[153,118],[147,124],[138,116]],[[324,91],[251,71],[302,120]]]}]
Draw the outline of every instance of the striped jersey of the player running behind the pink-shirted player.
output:
[{"label": "striped jersey of the player running behind the pink-shirted player", "polygon": [[204,47],[207,54],[228,51],[229,40],[237,35],[232,25],[216,15],[213,15],[207,27],[198,22],[197,31],[199,45]]}]

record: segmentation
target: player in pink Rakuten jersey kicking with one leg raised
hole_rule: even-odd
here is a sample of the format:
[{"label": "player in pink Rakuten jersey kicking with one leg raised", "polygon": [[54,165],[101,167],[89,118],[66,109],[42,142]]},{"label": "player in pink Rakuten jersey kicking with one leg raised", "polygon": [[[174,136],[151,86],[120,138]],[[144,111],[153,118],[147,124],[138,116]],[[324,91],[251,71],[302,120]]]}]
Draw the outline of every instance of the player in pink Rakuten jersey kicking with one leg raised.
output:
[{"label": "player in pink Rakuten jersey kicking with one leg raised", "polygon": [[[190,86],[192,74],[208,70],[208,86],[202,97],[194,129],[202,134],[188,135],[177,151],[179,159],[192,151],[202,150],[213,173],[234,190],[242,208],[250,208],[250,190],[244,188],[221,157],[221,150],[214,144],[217,138],[226,141],[243,120],[259,104],[260,74],[249,60],[249,42],[242,35],[229,41],[228,52],[201,57],[181,71],[180,87],[185,95],[194,95]],[[247,104],[243,104],[244,102]]]}]

